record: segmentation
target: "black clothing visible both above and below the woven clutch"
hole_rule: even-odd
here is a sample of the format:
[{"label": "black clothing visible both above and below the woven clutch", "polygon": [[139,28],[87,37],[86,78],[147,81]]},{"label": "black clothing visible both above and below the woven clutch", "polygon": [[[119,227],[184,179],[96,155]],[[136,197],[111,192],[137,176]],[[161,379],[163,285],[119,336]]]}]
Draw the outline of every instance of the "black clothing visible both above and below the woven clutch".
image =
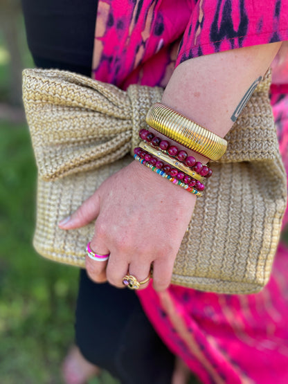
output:
[{"label": "black clothing visible both above and below the woven clutch", "polygon": [[[96,0],[22,0],[35,64],[90,76]],[[76,344],[87,360],[125,384],[170,384],[174,355],[133,291],[94,284],[80,273]]]}]

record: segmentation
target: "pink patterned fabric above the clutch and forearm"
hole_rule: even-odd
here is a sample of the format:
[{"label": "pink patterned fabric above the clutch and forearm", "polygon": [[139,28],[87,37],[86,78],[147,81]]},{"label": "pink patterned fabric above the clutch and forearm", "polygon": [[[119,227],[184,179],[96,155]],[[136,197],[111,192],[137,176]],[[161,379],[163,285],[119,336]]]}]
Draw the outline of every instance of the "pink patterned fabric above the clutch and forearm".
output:
[{"label": "pink patterned fabric above the clutch and forearm", "polygon": [[283,40],[288,0],[100,0],[93,77],[166,86],[184,60]]}]

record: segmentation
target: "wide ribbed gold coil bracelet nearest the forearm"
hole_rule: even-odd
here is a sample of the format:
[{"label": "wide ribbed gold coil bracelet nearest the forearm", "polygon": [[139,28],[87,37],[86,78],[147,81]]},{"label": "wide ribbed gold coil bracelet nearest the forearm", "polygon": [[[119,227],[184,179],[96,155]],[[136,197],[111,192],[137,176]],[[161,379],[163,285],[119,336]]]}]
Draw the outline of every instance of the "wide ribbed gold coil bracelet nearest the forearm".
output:
[{"label": "wide ribbed gold coil bracelet nearest the forearm", "polygon": [[196,122],[156,102],[147,112],[150,127],[186,148],[216,161],[226,152],[227,141]]}]

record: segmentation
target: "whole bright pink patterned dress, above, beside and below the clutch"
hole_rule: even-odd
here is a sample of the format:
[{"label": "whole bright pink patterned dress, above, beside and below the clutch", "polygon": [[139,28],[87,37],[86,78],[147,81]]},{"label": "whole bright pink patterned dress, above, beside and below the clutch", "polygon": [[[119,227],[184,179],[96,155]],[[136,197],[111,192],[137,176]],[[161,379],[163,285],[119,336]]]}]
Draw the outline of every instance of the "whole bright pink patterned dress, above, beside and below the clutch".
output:
[{"label": "whole bright pink patterned dress, above, beside and below the clutch", "polygon": [[[102,0],[93,77],[122,89],[135,83],[165,87],[184,60],[284,40],[288,0]],[[273,89],[271,100],[288,170],[288,85]],[[201,382],[288,383],[284,243],[269,284],[255,295],[219,295],[180,286],[156,293],[151,284],[138,295],[159,336]]]}]

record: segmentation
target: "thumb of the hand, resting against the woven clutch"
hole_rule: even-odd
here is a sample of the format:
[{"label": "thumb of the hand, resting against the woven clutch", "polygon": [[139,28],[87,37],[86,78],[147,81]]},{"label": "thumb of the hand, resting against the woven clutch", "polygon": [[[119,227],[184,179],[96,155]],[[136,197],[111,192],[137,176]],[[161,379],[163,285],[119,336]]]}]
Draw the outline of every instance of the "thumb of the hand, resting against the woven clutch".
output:
[{"label": "thumb of the hand, resting against the woven clutch", "polygon": [[84,227],[98,217],[100,212],[100,196],[98,191],[94,192],[87,200],[75,210],[71,216],[61,220],[58,226],[62,229],[74,229]]}]

